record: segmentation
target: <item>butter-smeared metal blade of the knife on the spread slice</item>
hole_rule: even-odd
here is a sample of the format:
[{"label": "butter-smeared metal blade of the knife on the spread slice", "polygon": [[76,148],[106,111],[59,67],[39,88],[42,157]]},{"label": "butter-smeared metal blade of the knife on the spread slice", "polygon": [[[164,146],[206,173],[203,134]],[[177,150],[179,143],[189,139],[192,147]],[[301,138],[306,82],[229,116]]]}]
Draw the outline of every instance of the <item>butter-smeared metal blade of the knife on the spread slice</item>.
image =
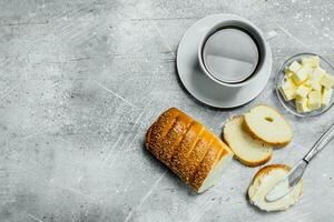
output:
[{"label": "butter-smeared metal blade of the knife on the spread slice", "polygon": [[279,180],[276,185],[267,193],[266,200],[269,202],[282,199],[287,195],[293,188],[302,179],[304,171],[307,167],[307,161],[304,159],[301,160],[291,171],[289,173]]}]

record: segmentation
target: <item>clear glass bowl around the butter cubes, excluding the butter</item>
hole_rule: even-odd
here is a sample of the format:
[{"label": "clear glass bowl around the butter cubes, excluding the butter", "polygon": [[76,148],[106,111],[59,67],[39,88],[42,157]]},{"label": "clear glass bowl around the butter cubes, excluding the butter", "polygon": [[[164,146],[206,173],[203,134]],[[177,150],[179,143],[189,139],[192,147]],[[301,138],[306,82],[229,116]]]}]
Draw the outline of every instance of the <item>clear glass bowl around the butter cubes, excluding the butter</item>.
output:
[{"label": "clear glass bowl around the butter cubes, excluding the butter", "polygon": [[295,54],[291,58],[288,58],[278,69],[278,72],[276,73],[276,79],[275,79],[275,85],[276,85],[276,94],[278,97],[279,102],[282,103],[282,105],[289,111],[291,113],[297,115],[297,117],[316,117],[320,115],[324,112],[326,112],[327,110],[330,110],[333,104],[334,104],[334,93],[331,98],[331,102],[327,107],[325,108],[321,108],[311,112],[305,112],[305,113],[299,113],[296,110],[296,105],[295,105],[295,100],[292,101],[285,101],[285,99],[283,98],[282,93],[279,92],[278,88],[279,85],[285,81],[284,79],[284,69],[285,67],[288,67],[293,61],[301,61],[303,57],[312,57],[312,56],[317,56],[320,58],[320,65],[321,68],[323,68],[324,70],[326,70],[326,72],[328,74],[334,74],[334,67],[330,63],[328,60],[326,60],[325,58],[318,56],[318,54],[314,54],[314,53],[299,53],[299,54]]}]

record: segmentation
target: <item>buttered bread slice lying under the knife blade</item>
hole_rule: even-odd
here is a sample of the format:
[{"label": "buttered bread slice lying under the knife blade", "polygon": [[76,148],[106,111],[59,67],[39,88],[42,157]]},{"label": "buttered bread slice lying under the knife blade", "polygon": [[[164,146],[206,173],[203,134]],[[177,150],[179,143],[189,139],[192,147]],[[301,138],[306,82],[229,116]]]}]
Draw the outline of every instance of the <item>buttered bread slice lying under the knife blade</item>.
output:
[{"label": "buttered bread slice lying under the knife blade", "polygon": [[282,199],[269,202],[267,193],[283,179],[291,168],[284,164],[273,164],[261,169],[254,176],[248,189],[249,202],[264,211],[283,211],[295,204],[303,191],[301,180],[293,190]]}]

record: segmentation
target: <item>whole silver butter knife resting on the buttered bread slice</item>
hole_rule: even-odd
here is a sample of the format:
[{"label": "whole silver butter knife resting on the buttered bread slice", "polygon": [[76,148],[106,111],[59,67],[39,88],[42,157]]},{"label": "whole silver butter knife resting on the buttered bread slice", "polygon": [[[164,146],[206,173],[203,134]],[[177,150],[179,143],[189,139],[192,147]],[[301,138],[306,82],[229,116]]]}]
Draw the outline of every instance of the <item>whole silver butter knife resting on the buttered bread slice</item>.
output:
[{"label": "whole silver butter knife resting on the buttered bread slice", "polygon": [[315,142],[308,153],[267,193],[266,200],[276,201],[288,194],[294,185],[302,179],[306,167],[311,160],[322,151],[326,144],[334,138],[334,123],[324,132],[324,134]]}]

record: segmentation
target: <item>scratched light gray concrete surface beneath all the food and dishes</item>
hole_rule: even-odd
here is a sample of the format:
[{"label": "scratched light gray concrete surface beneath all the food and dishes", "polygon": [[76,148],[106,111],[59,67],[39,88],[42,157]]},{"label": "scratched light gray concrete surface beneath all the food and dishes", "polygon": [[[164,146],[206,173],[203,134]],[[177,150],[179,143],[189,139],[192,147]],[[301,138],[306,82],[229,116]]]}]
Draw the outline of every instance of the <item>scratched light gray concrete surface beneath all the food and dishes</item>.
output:
[{"label": "scratched light gray concrete surface beneath all the food and dishes", "polygon": [[[196,20],[236,13],[269,39],[274,67],[249,104],[216,110],[177,81],[176,48]],[[334,121],[284,111],[274,74],[312,51],[334,63],[334,1],[0,0],[0,221],[332,221],[334,145],[305,174],[301,201],[262,213],[245,199],[258,168],[237,161],[196,195],[144,150],[144,134],[175,105],[219,134],[220,124],[258,102],[293,123],[293,143],[269,163],[293,164]]]}]

